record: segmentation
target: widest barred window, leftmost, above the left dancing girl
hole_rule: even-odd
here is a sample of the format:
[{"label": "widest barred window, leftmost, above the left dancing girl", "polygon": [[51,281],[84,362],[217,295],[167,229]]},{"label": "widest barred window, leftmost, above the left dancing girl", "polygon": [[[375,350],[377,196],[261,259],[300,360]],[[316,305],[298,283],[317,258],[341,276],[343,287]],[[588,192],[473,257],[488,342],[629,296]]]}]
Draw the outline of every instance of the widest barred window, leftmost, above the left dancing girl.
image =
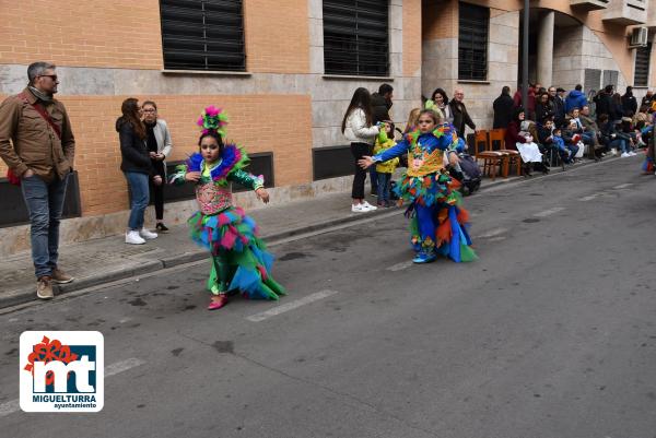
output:
[{"label": "widest barred window, leftmost, above the left dancing girl", "polygon": [[245,71],[242,0],[160,0],[164,68]]}]

